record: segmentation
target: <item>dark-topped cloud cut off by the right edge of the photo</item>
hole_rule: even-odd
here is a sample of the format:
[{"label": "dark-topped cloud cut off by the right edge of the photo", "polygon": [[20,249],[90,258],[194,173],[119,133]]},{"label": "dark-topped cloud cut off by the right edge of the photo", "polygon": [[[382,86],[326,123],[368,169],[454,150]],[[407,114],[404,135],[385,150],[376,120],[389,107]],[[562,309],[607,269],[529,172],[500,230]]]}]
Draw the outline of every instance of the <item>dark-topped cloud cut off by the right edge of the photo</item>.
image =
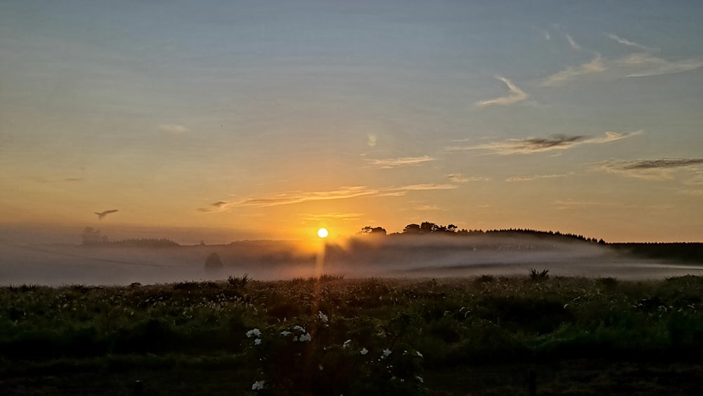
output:
[{"label": "dark-topped cloud cut off by the right edge of the photo", "polygon": [[675,170],[690,169],[703,165],[703,158],[659,158],[654,160],[607,160],[598,167],[605,172],[622,174],[627,177],[650,180],[673,179]]}]

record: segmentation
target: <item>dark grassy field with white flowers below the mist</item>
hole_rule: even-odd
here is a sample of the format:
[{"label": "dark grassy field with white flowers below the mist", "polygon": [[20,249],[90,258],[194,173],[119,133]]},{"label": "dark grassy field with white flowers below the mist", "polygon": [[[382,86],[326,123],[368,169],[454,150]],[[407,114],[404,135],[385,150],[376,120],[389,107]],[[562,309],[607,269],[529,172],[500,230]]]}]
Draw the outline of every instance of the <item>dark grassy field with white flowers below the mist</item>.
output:
[{"label": "dark grassy field with white flowers below the mist", "polygon": [[702,394],[703,278],[0,288],[4,394]]}]

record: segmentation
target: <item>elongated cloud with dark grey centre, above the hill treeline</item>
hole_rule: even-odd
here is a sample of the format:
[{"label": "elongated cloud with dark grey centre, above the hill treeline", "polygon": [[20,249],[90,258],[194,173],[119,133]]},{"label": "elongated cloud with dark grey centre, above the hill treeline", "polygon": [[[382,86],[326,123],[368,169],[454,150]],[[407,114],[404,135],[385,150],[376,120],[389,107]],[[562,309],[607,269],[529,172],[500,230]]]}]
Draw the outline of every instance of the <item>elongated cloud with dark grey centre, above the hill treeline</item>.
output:
[{"label": "elongated cloud with dark grey centre, above the hill treeline", "polygon": [[487,150],[496,154],[529,154],[544,151],[567,150],[579,144],[610,143],[643,134],[642,130],[633,132],[605,132],[604,136],[588,137],[583,135],[555,134],[548,138],[529,137],[527,139],[506,139],[482,143],[475,146],[452,146],[447,151]]}]

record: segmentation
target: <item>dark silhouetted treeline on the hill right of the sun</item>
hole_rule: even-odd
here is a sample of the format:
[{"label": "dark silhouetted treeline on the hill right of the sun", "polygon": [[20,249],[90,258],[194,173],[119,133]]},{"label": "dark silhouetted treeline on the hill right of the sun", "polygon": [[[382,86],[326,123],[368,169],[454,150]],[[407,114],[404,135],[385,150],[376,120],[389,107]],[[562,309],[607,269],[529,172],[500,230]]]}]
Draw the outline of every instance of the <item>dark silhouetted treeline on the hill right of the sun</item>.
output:
[{"label": "dark silhouetted treeline on the hill right of the sun", "polygon": [[[387,232],[383,227],[380,226],[365,226],[357,233],[357,235],[362,236],[387,236]],[[433,222],[423,222],[420,224],[408,224],[403,229],[403,232],[393,233],[388,236],[404,236],[404,235],[450,235],[450,236],[538,236],[538,237],[556,237],[556,238],[569,238],[576,239],[580,241],[593,242],[605,244],[602,239],[597,240],[596,238],[586,238],[583,235],[576,234],[562,234],[559,231],[537,231],[534,229],[493,229],[483,231],[481,229],[459,229],[454,224],[449,224],[448,226],[443,226]]]}]

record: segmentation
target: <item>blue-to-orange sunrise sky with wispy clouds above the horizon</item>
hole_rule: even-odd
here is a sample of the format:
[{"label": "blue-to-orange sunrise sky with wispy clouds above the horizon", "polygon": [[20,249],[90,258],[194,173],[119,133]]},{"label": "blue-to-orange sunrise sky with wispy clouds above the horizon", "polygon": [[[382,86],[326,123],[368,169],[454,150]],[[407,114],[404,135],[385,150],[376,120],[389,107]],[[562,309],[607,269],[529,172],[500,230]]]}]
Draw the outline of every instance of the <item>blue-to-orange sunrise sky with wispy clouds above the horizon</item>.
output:
[{"label": "blue-to-orange sunrise sky with wispy clouds above the horizon", "polygon": [[703,241],[701,20],[700,1],[1,0],[0,227]]}]

